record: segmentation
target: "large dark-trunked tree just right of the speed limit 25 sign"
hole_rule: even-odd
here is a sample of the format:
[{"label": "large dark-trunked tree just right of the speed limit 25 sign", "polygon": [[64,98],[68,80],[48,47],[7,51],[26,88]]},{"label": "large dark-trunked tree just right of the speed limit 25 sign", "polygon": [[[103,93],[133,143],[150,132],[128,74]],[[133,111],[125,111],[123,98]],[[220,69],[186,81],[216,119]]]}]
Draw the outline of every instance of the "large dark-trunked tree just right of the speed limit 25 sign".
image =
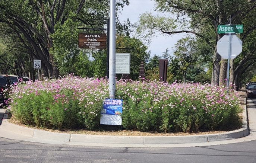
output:
[{"label": "large dark-trunked tree just right of the speed limit 25 sign", "polygon": [[[58,41],[70,46],[57,49],[76,52],[74,38],[79,26],[103,27],[108,18],[108,0],[0,0],[0,23],[8,25],[22,42],[33,59],[42,61],[42,73],[58,76],[59,57],[54,56]],[[117,1],[117,7],[129,4],[128,0]],[[62,33],[58,35],[58,33]],[[67,36],[67,37],[65,37]],[[77,36],[75,36],[77,37]],[[59,38],[59,39],[58,39]],[[63,40],[65,39],[65,40]],[[72,46],[73,45],[73,46]],[[76,48],[74,48],[76,47]],[[65,53],[66,54],[66,53]],[[61,61],[61,60],[60,60]]]}]

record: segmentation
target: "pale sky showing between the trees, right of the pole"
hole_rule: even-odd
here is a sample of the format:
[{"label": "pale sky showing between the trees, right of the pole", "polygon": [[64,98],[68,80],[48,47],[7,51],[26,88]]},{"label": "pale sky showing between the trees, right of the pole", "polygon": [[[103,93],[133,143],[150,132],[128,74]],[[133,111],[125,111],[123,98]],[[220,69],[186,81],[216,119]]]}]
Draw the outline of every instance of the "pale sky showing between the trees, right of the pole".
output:
[{"label": "pale sky showing between the trees, right of the pole", "polygon": [[[129,6],[124,6],[121,13],[118,13],[120,22],[126,21],[128,18],[133,24],[139,20],[139,15],[145,12],[152,12],[153,15],[163,15],[162,13],[154,12],[155,1],[154,0],[129,0]],[[167,13],[165,13],[166,15]],[[177,43],[178,39],[181,39],[184,34],[175,34],[172,36],[162,36],[160,35],[157,38],[152,38],[152,42],[148,48],[148,51],[151,51],[151,57],[156,55],[161,56],[168,48],[169,53],[173,53],[173,47]]]}]

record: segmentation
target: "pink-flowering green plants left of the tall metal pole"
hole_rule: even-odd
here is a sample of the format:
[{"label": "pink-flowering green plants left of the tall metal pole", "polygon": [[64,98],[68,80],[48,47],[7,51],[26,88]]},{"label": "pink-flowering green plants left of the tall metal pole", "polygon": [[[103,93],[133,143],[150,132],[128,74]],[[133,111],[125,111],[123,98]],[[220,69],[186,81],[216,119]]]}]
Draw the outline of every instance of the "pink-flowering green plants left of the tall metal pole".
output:
[{"label": "pink-flowering green plants left of the tall metal pole", "polygon": [[15,86],[12,109],[23,124],[59,130],[83,127],[95,130],[99,127],[102,101],[107,96],[106,80],[69,75]]}]

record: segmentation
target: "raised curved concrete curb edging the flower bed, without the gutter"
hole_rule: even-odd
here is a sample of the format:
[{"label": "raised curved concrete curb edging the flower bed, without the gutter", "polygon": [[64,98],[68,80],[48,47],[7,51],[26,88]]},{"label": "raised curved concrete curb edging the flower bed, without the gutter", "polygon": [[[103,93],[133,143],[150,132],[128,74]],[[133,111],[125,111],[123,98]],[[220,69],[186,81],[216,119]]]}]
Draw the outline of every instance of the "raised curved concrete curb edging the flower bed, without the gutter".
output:
[{"label": "raised curved concrete curb edging the flower bed, without the gutter", "polygon": [[248,112],[244,105],[243,111],[243,125],[241,129],[229,131],[222,134],[208,134],[208,135],[189,135],[189,136],[106,136],[106,135],[83,135],[83,134],[65,134],[57,132],[42,131],[27,127],[22,127],[9,123],[4,119],[0,129],[11,131],[15,134],[30,137],[34,140],[47,140],[59,142],[74,142],[74,143],[104,143],[104,144],[184,144],[184,143],[205,143],[221,140],[231,140],[241,138],[249,135],[248,127]]}]

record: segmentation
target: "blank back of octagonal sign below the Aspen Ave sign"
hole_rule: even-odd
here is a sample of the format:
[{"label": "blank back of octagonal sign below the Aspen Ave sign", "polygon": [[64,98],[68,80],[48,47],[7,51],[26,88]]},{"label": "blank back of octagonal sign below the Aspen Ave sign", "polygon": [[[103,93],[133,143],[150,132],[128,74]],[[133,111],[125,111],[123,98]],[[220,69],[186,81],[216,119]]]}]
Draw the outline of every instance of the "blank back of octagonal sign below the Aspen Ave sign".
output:
[{"label": "blank back of octagonal sign below the Aspen Ave sign", "polygon": [[[229,35],[224,35],[217,42],[217,52],[224,59],[228,59],[228,43],[229,43]],[[230,59],[236,58],[236,56],[242,52],[242,41],[236,35],[231,35],[230,49],[231,49]]]}]

